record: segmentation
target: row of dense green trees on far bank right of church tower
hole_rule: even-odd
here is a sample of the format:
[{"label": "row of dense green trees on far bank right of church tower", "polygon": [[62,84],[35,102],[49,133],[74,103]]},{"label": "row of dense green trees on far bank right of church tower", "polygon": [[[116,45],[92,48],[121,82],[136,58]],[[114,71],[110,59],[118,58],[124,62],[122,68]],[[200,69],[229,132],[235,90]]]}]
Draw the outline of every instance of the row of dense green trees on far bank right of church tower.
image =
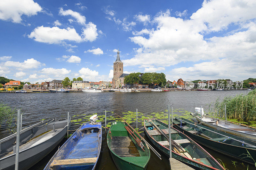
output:
[{"label": "row of dense green trees on far bank right of church tower", "polygon": [[125,84],[143,84],[143,85],[151,85],[155,84],[164,87],[166,84],[166,78],[164,73],[131,73],[124,77]]}]

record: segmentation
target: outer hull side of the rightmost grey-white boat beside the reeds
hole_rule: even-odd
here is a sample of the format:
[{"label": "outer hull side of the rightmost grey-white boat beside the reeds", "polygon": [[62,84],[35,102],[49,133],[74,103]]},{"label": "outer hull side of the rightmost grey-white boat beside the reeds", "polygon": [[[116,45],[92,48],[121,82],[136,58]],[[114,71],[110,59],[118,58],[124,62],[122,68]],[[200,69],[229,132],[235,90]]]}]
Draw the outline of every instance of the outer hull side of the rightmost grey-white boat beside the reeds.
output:
[{"label": "outer hull side of the rightmost grey-white boat beside the reeds", "polygon": [[[200,122],[200,118],[198,116],[196,116],[196,120],[198,122]],[[256,142],[256,136],[255,135],[251,135],[251,134],[248,134],[248,133],[239,132],[237,130],[231,130],[231,129],[227,129],[227,128],[224,128],[224,127],[216,126],[216,125],[214,125],[212,123],[209,123],[209,122],[203,122],[202,121],[202,124],[204,126],[208,126],[210,128],[220,130],[220,131],[224,131],[224,132],[229,133],[231,135],[236,135],[238,137],[243,137],[243,138],[246,138],[246,139],[249,139],[249,140],[252,140],[252,141]]]}]

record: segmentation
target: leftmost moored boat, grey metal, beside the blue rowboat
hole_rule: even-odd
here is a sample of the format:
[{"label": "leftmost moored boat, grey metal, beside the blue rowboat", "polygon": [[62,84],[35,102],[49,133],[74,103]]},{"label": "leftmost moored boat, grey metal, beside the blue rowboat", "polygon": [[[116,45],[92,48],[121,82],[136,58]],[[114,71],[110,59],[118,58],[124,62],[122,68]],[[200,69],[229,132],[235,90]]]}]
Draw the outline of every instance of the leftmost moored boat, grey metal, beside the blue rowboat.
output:
[{"label": "leftmost moored boat, grey metal, beside the blue rowboat", "polygon": [[[19,170],[28,169],[50,153],[65,137],[67,119],[41,121],[20,131]],[[55,129],[55,131],[54,131]],[[16,133],[0,140],[0,169],[15,167]]]}]

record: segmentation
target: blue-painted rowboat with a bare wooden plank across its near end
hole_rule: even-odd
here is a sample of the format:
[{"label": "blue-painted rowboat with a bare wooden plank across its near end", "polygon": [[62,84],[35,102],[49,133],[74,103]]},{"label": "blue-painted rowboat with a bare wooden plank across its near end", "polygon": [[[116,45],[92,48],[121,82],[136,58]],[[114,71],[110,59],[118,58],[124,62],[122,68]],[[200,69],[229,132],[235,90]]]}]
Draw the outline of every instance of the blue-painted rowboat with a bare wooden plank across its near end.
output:
[{"label": "blue-painted rowboat with a bare wooden plank across its near end", "polygon": [[53,155],[44,170],[95,169],[101,139],[101,122],[84,123]]}]

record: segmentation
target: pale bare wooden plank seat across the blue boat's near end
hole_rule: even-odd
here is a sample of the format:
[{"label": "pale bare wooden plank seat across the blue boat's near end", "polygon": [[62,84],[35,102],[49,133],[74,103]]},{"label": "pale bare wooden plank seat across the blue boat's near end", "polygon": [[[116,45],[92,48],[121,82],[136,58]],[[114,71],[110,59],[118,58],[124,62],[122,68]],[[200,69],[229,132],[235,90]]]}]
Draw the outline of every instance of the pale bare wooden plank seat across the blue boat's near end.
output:
[{"label": "pale bare wooden plank seat across the blue boat's near end", "polygon": [[81,159],[53,160],[50,166],[95,163],[97,161],[97,159],[98,159],[98,157],[95,157],[95,158],[81,158]]}]

